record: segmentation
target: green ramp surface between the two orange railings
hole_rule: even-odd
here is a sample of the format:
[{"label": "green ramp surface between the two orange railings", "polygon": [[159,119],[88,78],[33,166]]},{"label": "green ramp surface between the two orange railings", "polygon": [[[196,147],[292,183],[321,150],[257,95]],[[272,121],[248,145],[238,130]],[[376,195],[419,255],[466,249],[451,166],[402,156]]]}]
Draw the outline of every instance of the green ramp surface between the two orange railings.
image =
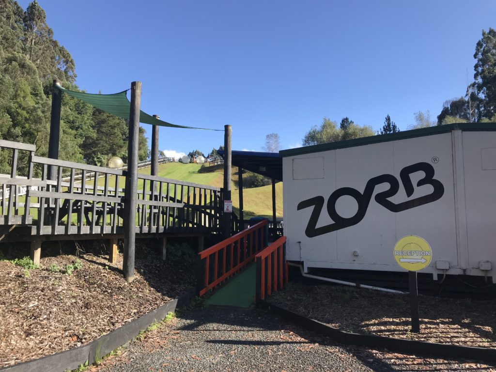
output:
[{"label": "green ramp surface between the two orange railings", "polygon": [[255,275],[256,265],[252,263],[210,296],[205,304],[249,308],[255,301]]}]

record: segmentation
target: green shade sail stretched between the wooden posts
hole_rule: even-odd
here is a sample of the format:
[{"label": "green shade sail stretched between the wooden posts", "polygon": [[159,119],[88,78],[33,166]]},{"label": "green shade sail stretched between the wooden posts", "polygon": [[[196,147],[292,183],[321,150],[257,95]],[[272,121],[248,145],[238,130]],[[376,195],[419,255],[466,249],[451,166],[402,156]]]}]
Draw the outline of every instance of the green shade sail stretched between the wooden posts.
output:
[{"label": "green shade sail stretched between the wooden posts", "polygon": [[[57,86],[57,88],[60,89],[62,92],[67,93],[69,96],[76,97],[81,101],[90,104],[93,107],[105,111],[106,113],[118,116],[119,118],[129,119],[129,109],[131,107],[131,103],[129,102],[126,96],[127,90],[114,94],[92,94],[92,93],[74,92],[73,90],[62,88],[61,86]],[[171,124],[164,122],[163,120],[156,119],[153,116],[148,115],[143,111],[139,112],[139,122],[144,124],[169,126],[172,128],[204,129],[204,130],[218,130],[218,131],[223,130],[223,129],[196,128],[194,126]]]}]

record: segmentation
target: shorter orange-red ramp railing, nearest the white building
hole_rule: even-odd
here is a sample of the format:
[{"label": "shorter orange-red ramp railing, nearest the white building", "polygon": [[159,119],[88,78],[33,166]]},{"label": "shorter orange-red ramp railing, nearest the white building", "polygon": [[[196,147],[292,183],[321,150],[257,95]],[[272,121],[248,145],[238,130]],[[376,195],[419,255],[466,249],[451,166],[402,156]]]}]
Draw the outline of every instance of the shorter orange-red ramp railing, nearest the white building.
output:
[{"label": "shorter orange-red ramp railing, nearest the white building", "polygon": [[288,282],[288,261],[286,261],[286,237],[281,237],[255,256],[256,287],[255,298],[265,300],[272,292],[283,289]]}]

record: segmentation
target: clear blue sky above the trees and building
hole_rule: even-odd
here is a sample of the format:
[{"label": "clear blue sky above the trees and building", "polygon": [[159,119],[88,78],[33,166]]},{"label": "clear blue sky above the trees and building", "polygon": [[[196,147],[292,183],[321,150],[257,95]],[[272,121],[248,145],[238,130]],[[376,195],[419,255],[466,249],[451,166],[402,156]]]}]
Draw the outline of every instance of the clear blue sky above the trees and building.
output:
[{"label": "clear blue sky above the trees and building", "polygon": [[[254,151],[271,132],[282,148],[300,146],[323,117],[375,130],[387,114],[400,129],[419,110],[435,120],[465,94],[475,45],[496,27],[493,0],[39,3],[81,89],[116,93],[139,80],[145,112],[231,124],[233,149]],[[160,149],[222,143],[222,132],[160,128]]]}]

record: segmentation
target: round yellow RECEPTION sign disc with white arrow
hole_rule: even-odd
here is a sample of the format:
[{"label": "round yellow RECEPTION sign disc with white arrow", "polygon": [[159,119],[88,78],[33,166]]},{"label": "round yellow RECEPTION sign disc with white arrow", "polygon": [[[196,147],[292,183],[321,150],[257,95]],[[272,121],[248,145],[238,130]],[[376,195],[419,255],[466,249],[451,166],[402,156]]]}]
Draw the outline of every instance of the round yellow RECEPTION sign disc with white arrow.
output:
[{"label": "round yellow RECEPTION sign disc with white arrow", "polygon": [[408,271],[419,271],[429,266],[432,249],[424,239],[415,235],[401,238],[394,246],[394,259]]}]

